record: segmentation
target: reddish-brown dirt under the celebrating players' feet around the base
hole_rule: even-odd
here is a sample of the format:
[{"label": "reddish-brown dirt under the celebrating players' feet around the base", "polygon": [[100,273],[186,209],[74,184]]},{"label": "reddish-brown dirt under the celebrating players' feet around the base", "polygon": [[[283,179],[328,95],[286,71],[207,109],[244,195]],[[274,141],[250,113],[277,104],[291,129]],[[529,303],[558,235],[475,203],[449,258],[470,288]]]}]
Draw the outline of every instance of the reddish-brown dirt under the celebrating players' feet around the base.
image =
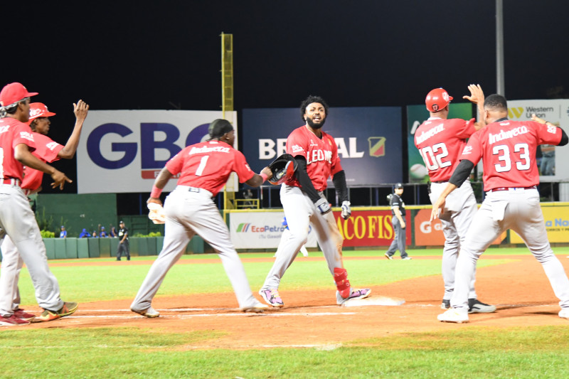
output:
[{"label": "reddish-brown dirt under the celebrating players' feet around the base", "polygon": [[[541,265],[531,255],[491,256],[514,259],[504,265],[483,267],[477,272],[481,301],[495,304],[493,314],[474,314],[469,324],[437,321],[442,311],[442,278],[423,277],[372,288],[371,302],[381,296],[405,299],[400,306],[337,306],[335,290],[282,291],[285,307],[262,314],[244,314],[233,293],[158,297],[153,306],[161,312],[147,319],[129,311],[130,299],[80,304],[73,316],[26,328],[139,327],[165,332],[220,331],[223,336],[191,343],[187,348],[333,348],[360,338],[394,333],[452,330],[478,326],[569,325],[560,319],[558,299]],[[565,270],[569,260],[558,256]],[[417,257],[415,259],[430,259]],[[257,295],[257,299],[260,297]]]}]

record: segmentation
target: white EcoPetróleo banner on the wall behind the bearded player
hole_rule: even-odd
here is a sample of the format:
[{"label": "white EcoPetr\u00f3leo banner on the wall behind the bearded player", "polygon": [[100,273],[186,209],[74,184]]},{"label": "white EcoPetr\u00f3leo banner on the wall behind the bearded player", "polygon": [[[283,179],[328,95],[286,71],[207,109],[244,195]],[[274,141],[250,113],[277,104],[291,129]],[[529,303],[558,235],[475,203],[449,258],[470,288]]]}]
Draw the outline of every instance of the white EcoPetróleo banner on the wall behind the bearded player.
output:
[{"label": "white EcoPetr\u00f3leo banner on the wall behind the bearded player", "polygon": [[[282,212],[231,212],[229,230],[236,249],[275,249],[285,227]],[[316,234],[309,228],[306,247],[317,247]]]}]

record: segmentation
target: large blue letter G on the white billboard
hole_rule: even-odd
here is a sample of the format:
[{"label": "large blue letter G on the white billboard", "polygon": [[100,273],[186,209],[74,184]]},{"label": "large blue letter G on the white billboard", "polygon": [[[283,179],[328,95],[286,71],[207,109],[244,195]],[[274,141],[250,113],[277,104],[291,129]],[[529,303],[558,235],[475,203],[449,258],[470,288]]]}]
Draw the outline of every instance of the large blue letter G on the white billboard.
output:
[{"label": "large blue letter G on the white billboard", "polygon": [[132,134],[132,130],[122,124],[109,123],[100,125],[95,128],[87,138],[87,154],[89,154],[93,163],[97,164],[97,166],[101,166],[103,169],[122,169],[122,167],[128,166],[134,161],[134,158],[137,156],[137,144],[134,142],[113,142],[111,144],[111,150],[122,151],[124,152],[124,156],[116,161],[106,159],[101,154],[100,144],[102,137],[110,133],[126,137]]}]

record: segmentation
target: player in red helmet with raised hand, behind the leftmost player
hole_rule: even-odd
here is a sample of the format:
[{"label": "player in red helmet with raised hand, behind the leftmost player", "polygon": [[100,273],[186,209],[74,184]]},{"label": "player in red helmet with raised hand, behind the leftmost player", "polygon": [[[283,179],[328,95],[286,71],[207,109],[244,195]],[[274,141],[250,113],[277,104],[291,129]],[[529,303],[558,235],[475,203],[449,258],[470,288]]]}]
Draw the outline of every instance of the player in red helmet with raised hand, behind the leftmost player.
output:
[{"label": "player in red helmet with raised hand, behind the leftmost player", "polygon": [[[72,159],[73,156],[75,156],[75,151],[77,151],[77,146],[79,144],[81,129],[83,127],[85,117],[87,117],[89,106],[85,104],[83,100],[79,100],[78,104],[73,104],[73,108],[76,118],[75,128],[73,129],[73,133],[71,134],[71,137],[69,137],[67,144],[63,146],[57,142],[53,142],[53,140],[46,135],[50,128],[50,120],[48,117],[55,116],[55,113],[49,112],[48,107],[41,102],[33,102],[30,104],[30,117],[28,119],[28,124],[30,124],[33,132],[33,140],[36,143],[36,150],[32,151],[33,156],[36,156],[41,161],[48,163],[57,161],[60,158]],[[31,193],[41,191],[42,178],[42,171],[25,167],[23,181],[21,183],[23,193],[27,196]],[[34,319],[35,316],[33,314],[28,314],[19,307],[20,292],[18,291],[18,281],[23,260],[9,235],[4,237],[1,249],[2,267],[0,273],[0,312],[5,309],[12,309],[14,314],[19,316],[21,319],[49,321],[51,319],[50,317],[48,317],[47,320],[43,320],[41,316]]]}]

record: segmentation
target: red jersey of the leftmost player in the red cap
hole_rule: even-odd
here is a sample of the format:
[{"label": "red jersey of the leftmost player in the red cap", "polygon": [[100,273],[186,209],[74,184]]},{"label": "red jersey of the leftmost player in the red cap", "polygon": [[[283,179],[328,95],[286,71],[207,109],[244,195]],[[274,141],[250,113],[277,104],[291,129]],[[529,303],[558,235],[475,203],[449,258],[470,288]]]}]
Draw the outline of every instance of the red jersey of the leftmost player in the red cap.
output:
[{"label": "red jersey of the leftmost player in the red cap", "polygon": [[30,127],[12,117],[0,119],[0,178],[22,180],[23,166],[14,158],[14,150],[18,144],[28,145],[33,151],[36,144]]}]

